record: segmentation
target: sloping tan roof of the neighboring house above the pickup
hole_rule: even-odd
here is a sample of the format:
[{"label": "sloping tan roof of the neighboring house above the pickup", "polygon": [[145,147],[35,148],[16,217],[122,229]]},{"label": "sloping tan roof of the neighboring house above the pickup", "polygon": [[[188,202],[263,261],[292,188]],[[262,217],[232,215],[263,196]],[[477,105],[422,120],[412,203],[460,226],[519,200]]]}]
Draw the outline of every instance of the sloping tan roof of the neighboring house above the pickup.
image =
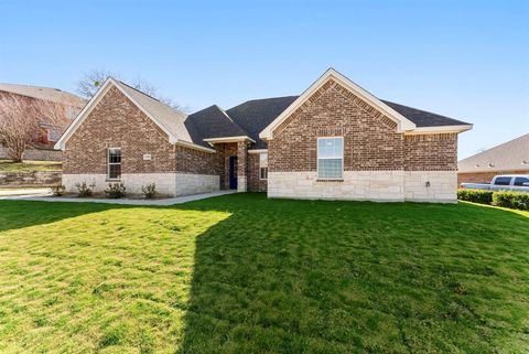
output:
[{"label": "sloping tan roof of the neighboring house above the pickup", "polygon": [[529,170],[529,133],[457,163],[458,172]]}]

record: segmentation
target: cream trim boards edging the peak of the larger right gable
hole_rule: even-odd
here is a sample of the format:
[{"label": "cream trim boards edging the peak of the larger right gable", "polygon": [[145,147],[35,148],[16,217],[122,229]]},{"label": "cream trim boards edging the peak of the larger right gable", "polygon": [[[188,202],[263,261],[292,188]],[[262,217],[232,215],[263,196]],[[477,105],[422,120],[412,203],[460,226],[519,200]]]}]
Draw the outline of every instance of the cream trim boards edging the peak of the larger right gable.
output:
[{"label": "cream trim boards edging the peak of the larger right gable", "polygon": [[377,97],[369,94],[367,90],[360,86],[353,83],[350,79],[344,75],[336,72],[334,68],[327,69],[314,84],[312,84],[298,99],[295,99],[278,118],[276,118],[270,125],[268,125],[260,133],[261,139],[272,139],[273,130],[281,125],[290,115],[292,115],[298,108],[300,108],[307,99],[312,97],[323,85],[330,81],[335,81],[353,94],[357,95],[370,106],[379,110],[381,114],[386,115],[388,118],[393,120],[397,124],[398,131],[407,131],[415,128],[415,125],[386,105],[384,101]]}]

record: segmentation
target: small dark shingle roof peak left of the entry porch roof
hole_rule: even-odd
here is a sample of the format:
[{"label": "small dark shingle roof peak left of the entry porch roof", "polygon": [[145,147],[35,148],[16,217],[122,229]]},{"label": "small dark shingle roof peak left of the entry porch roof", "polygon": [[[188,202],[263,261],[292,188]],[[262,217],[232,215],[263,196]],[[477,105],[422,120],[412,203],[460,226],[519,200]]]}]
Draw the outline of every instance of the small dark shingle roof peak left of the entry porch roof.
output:
[{"label": "small dark shingle roof peak left of the entry porch roof", "polygon": [[185,120],[185,128],[193,142],[204,147],[209,147],[204,139],[248,135],[217,105],[190,115]]}]

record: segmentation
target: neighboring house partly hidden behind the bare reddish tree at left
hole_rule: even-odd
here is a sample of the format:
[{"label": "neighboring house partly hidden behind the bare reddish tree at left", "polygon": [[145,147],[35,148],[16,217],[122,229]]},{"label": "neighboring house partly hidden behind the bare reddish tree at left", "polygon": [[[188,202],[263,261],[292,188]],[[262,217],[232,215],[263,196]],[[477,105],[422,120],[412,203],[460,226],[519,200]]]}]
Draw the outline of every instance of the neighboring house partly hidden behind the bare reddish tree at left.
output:
[{"label": "neighboring house partly hidden behind the bare reddish tree at left", "polygon": [[[61,153],[53,151],[53,147],[67,125],[86,105],[86,101],[58,88],[0,84],[0,101],[13,99],[26,106],[46,104],[55,107],[53,110],[61,114],[62,117],[39,118],[35,124],[35,138],[32,147],[24,152],[26,160],[60,160]],[[7,158],[4,154],[0,147],[0,159]]]}]

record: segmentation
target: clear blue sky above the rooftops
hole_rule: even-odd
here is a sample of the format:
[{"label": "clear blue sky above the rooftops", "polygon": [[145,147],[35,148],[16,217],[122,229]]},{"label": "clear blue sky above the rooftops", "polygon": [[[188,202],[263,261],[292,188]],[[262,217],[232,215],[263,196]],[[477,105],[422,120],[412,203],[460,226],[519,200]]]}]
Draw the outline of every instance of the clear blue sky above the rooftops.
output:
[{"label": "clear blue sky above the rooftops", "polygon": [[138,77],[188,112],[299,95],[334,67],[474,124],[460,159],[529,132],[529,1],[0,0],[0,83]]}]

